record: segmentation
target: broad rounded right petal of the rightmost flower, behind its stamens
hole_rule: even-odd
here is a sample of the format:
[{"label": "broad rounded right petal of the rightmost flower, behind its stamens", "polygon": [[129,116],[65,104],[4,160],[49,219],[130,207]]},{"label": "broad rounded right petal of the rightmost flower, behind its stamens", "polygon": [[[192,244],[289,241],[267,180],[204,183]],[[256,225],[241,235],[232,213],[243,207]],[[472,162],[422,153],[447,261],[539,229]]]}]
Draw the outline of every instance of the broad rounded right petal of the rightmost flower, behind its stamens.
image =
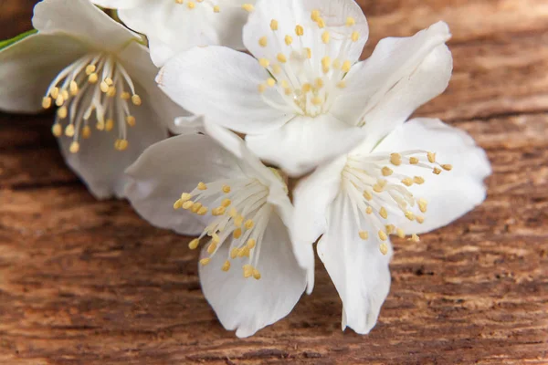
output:
[{"label": "broad rounded right petal of the rightmost flower, behind its stamens", "polygon": [[[437,229],[474,209],[485,199],[483,180],[491,173],[485,151],[469,134],[441,120],[410,120],[389,134],[374,151],[417,149],[436,152],[437,162],[451,164],[453,169],[439,175],[427,172],[422,175],[426,180],[424,184],[409,188],[416,198],[426,199],[428,205],[424,224],[402,224],[406,234]],[[417,172],[414,168],[398,168],[398,173],[400,171],[407,171],[411,176]]]}]

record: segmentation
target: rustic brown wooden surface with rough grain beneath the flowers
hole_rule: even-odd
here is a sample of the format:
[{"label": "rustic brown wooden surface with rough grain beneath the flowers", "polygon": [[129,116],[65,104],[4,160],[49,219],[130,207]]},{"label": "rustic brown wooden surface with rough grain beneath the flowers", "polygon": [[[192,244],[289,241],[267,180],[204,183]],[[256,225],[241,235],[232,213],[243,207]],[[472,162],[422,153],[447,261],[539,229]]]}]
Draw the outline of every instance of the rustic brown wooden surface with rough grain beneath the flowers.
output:
[{"label": "rustic brown wooden surface with rough grain beneath the flowers", "polygon": [[[0,0],[0,39],[29,29],[34,3]],[[417,114],[469,131],[494,169],[476,211],[395,242],[373,332],[341,332],[319,265],[288,318],[236,339],[205,302],[185,238],[126,202],[95,201],[49,116],[0,114],[0,363],[548,364],[548,1],[360,3],[365,54],[381,37],[448,22],[454,77]]]}]

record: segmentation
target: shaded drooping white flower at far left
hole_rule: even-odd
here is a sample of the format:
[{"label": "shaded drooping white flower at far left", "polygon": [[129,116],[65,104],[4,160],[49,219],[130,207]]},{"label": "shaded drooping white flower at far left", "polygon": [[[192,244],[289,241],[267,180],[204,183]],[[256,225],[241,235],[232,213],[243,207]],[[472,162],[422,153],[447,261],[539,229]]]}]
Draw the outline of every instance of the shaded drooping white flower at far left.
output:
[{"label": "shaded drooping white flower at far left", "polygon": [[99,198],[121,197],[124,170],[184,111],[157,88],[140,36],[89,0],[44,0],[37,34],[0,50],[0,110],[58,107],[52,131]]}]

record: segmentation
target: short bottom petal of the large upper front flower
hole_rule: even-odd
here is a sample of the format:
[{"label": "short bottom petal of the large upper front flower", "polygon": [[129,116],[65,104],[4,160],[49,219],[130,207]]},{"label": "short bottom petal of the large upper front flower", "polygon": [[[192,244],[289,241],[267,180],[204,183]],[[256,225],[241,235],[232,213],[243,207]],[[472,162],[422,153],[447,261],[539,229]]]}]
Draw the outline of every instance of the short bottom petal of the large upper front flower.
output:
[{"label": "short bottom petal of the large upper front flower", "polygon": [[279,130],[246,137],[251,151],[291,176],[310,172],[353,150],[363,140],[362,129],[349,127],[330,115],[295,117]]}]

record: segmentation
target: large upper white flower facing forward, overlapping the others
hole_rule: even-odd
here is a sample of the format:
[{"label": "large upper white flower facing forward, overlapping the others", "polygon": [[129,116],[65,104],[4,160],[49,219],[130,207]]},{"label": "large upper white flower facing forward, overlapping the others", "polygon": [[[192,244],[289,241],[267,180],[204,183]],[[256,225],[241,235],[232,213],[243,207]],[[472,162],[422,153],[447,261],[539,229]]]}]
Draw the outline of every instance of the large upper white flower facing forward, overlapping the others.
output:
[{"label": "large upper white flower facing forward, overlapping the others", "polygon": [[[258,0],[243,36],[253,57],[194,48],[167,62],[157,80],[184,108],[248,134],[251,151],[293,176],[352,150],[364,139],[361,127],[382,122],[395,103],[399,114],[387,124],[447,86],[436,76],[447,67],[437,62],[447,25],[386,38],[356,63],[368,27],[353,0]],[[414,78],[425,63],[430,68]]]}]

